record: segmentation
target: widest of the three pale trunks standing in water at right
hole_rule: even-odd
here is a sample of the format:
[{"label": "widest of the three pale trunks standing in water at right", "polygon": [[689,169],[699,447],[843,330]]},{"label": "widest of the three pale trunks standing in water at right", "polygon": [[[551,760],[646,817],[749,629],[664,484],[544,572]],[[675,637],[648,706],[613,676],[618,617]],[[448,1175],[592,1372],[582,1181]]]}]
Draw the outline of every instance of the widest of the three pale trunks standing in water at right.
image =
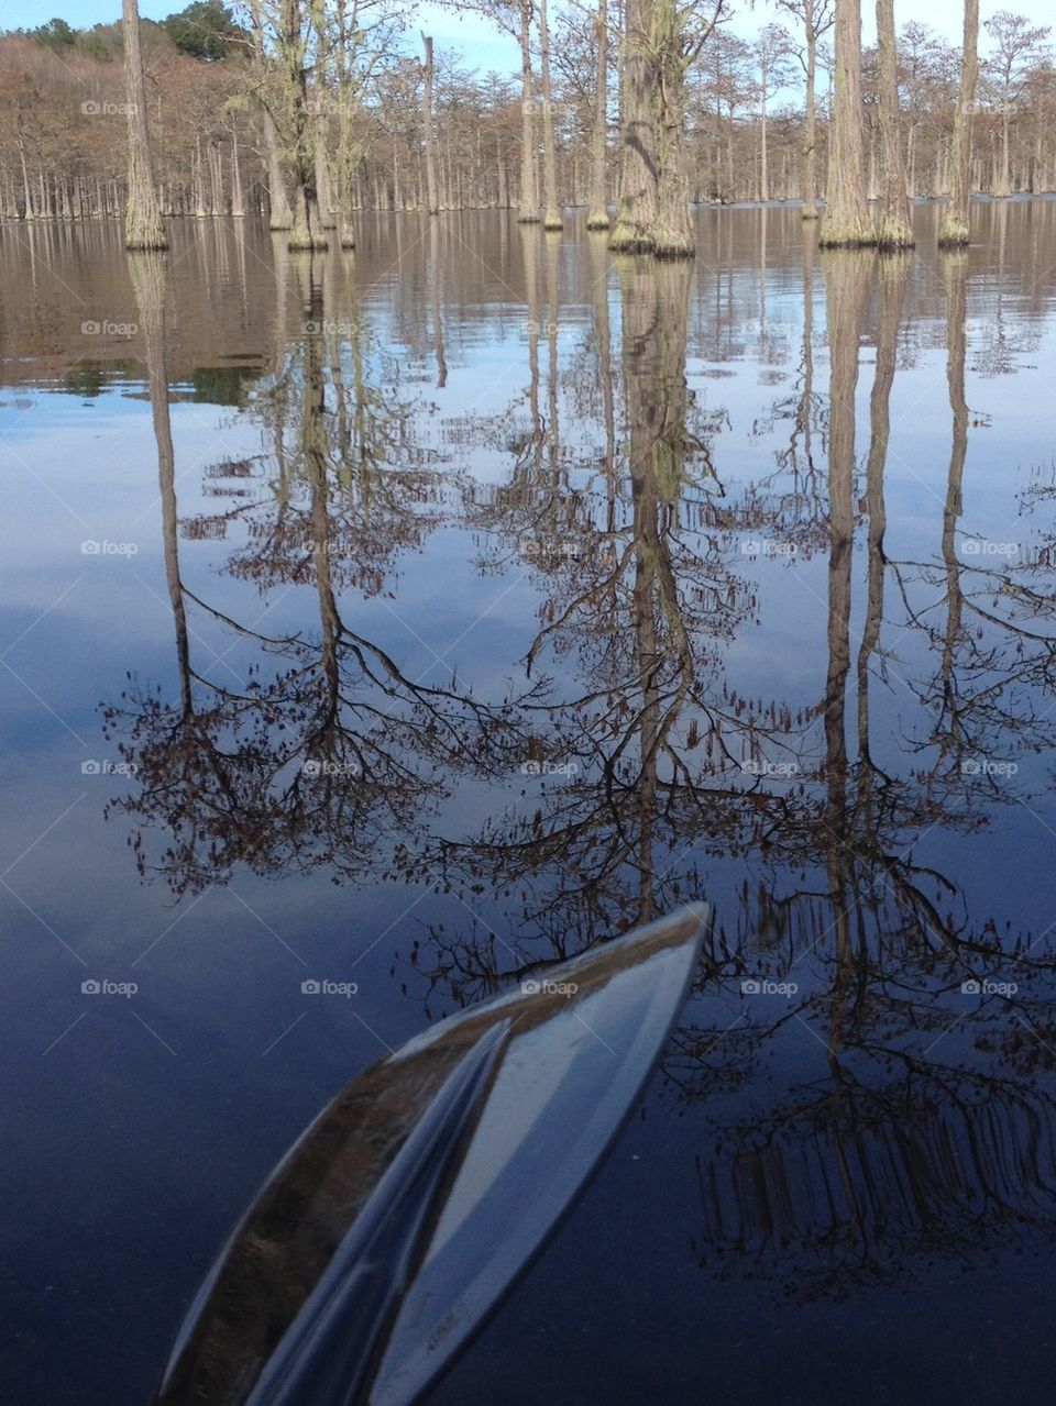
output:
[{"label": "widest of the three pale trunks standing in water at right", "polygon": [[835,75],[828,183],[820,242],[825,247],[875,245],[862,169],[862,6],[835,0]]}]

